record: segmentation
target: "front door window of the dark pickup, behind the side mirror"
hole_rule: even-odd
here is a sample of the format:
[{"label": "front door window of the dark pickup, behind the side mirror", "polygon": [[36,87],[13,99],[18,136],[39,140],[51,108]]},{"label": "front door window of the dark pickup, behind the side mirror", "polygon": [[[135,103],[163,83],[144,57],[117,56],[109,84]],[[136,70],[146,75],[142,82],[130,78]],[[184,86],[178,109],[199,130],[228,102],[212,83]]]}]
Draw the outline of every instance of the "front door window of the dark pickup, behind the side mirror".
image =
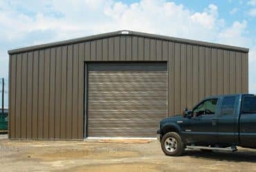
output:
[{"label": "front door window of the dark pickup, behind the side mirror", "polygon": [[203,103],[199,104],[197,107],[194,108],[193,114],[194,116],[201,116],[201,115],[210,115],[215,114],[217,108],[217,98],[212,98],[203,101]]}]

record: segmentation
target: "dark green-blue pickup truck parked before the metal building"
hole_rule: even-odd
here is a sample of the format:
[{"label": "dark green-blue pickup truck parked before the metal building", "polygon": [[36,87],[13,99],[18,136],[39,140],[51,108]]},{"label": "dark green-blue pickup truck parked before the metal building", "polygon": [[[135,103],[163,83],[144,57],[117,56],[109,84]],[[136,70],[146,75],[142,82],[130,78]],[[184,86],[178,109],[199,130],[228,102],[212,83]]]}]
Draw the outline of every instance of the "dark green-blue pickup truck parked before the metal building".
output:
[{"label": "dark green-blue pickup truck parked before the metal building", "polygon": [[237,151],[256,148],[256,96],[211,96],[182,115],[161,120],[157,138],[165,155],[185,149]]}]

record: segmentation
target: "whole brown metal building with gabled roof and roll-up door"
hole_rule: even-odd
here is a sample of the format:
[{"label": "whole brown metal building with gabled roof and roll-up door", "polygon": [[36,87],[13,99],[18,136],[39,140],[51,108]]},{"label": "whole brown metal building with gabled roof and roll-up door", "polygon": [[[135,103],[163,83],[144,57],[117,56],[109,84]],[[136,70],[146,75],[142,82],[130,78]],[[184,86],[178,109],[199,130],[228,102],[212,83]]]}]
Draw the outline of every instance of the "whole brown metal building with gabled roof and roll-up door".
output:
[{"label": "whole brown metal building with gabled roof and roll-up door", "polygon": [[152,137],[205,96],[248,93],[248,49],[118,31],[10,50],[12,139]]}]

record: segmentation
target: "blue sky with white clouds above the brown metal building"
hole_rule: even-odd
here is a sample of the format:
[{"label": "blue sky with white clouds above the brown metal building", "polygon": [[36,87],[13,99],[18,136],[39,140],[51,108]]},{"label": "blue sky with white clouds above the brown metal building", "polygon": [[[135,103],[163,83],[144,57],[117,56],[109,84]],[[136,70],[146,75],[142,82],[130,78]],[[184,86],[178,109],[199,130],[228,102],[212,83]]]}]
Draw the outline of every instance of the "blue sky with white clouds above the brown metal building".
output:
[{"label": "blue sky with white clouds above the brown metal building", "polygon": [[136,30],[250,48],[249,92],[256,93],[255,28],[256,0],[0,0],[0,77],[8,82],[8,50]]}]

